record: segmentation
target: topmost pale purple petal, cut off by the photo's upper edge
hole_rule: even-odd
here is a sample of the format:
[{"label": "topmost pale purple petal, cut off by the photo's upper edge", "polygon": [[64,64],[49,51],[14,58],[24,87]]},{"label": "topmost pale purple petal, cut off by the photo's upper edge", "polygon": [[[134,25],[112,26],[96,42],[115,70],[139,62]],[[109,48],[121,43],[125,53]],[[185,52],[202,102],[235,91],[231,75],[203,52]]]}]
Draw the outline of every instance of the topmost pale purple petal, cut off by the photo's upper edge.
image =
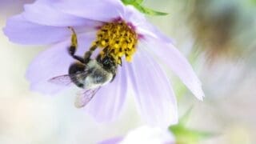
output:
[{"label": "topmost pale purple petal, cut off by the photo's upper edge", "polygon": [[118,0],[59,0],[53,5],[66,14],[101,22],[118,18],[124,9],[122,2]]}]

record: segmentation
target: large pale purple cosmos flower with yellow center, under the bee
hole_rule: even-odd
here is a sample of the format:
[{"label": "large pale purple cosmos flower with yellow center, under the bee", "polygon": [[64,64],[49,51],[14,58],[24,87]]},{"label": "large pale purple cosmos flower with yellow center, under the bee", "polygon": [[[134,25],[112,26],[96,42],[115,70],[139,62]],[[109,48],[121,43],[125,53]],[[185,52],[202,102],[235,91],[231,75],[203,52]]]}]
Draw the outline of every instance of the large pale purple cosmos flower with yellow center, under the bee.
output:
[{"label": "large pale purple cosmos flower with yellow center, under the bee", "polygon": [[68,27],[77,33],[77,55],[95,46],[99,51],[94,54],[104,56],[104,50],[109,50],[119,65],[114,81],[102,86],[85,106],[97,121],[114,120],[127,94],[133,93],[140,114],[150,125],[166,127],[178,122],[172,86],[155,58],[170,67],[202,100],[201,82],[170,38],[133,6],[118,0],[38,0],[26,5],[22,14],[8,19],[4,33],[11,42],[53,45],[39,54],[26,72],[31,90],[56,94],[66,89],[48,80],[67,74],[75,61],[67,52],[71,37]]}]

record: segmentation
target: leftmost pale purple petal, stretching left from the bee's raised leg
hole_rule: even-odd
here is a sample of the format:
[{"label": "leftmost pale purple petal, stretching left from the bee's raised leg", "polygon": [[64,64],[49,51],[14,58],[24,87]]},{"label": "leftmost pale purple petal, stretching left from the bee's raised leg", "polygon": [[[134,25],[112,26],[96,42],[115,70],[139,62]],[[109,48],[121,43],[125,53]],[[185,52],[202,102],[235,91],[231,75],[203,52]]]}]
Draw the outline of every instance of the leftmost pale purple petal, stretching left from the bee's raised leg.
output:
[{"label": "leftmost pale purple petal, stretching left from the bee's raised leg", "polygon": [[41,26],[27,22],[22,14],[9,18],[4,33],[12,42],[21,44],[49,44],[70,36],[66,27]]}]

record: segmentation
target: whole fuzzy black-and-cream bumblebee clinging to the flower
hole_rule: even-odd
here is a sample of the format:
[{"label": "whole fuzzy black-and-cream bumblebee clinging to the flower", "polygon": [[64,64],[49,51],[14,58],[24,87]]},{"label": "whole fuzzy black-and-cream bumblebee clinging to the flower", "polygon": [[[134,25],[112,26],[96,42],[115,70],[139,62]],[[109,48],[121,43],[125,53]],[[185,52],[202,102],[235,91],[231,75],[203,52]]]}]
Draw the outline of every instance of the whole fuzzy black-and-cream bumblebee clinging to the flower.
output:
[{"label": "whole fuzzy black-and-cream bumblebee clinging to the flower", "polygon": [[91,58],[97,46],[92,46],[90,50],[86,51],[83,58],[76,55],[75,52],[78,47],[77,36],[73,28],[69,27],[69,29],[72,31],[72,37],[68,53],[77,62],[70,65],[68,74],[51,78],[50,82],[62,85],[74,83],[79,88],[82,88],[84,92],[78,95],[75,102],[75,106],[80,108],[90,102],[101,86],[105,86],[114,80],[118,63],[107,52],[104,55],[98,54],[94,59]]}]

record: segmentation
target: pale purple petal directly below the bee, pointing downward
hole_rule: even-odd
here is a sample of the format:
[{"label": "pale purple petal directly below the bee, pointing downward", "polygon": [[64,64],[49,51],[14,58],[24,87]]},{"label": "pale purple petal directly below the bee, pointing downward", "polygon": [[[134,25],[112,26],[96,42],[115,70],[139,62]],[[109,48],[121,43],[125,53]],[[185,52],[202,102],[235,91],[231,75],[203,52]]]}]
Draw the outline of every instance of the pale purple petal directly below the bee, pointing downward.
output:
[{"label": "pale purple petal directly below the bee, pointing downward", "polygon": [[126,100],[126,70],[119,67],[114,81],[102,86],[86,106],[86,111],[98,122],[110,122],[116,118]]}]

